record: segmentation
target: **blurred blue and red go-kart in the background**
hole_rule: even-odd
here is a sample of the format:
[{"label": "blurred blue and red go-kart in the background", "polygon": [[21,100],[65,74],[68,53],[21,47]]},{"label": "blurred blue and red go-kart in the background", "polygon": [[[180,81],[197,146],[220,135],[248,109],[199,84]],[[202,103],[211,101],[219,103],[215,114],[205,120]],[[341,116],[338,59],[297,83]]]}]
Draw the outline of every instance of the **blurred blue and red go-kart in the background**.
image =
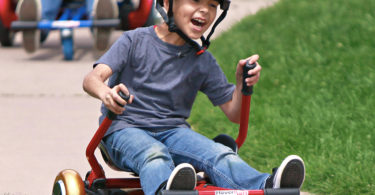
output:
[{"label": "blurred blue and red go-kart in the background", "polygon": [[15,14],[15,0],[0,0],[0,37],[3,46],[11,46],[13,34],[28,29],[60,30],[65,60],[74,56],[73,29],[116,28],[131,30],[155,23],[154,1],[140,0],[133,5],[131,0],[118,1],[119,18],[91,20],[86,14],[84,0],[64,0],[60,13],[54,21],[18,21]]}]

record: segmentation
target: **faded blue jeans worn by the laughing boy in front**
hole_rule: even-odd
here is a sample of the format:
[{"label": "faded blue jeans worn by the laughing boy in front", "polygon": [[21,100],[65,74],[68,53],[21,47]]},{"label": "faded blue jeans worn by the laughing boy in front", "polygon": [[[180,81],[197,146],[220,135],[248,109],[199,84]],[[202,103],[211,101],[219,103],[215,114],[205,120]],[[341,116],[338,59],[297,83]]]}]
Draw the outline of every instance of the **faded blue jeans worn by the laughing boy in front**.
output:
[{"label": "faded blue jeans worn by the laughing boy in front", "polygon": [[180,163],[190,163],[224,188],[262,189],[269,176],[250,167],[230,148],[188,128],[160,132],[126,128],[106,136],[104,142],[118,167],[139,175],[146,195],[154,195]]}]

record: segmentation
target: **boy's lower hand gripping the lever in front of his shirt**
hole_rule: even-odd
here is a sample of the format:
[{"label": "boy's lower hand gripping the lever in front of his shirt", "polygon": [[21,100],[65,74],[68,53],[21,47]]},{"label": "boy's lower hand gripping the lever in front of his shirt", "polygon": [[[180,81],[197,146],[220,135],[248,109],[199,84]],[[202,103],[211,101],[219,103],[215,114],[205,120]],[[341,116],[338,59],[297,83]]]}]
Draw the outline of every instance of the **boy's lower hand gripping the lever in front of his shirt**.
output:
[{"label": "boy's lower hand gripping the lever in front of his shirt", "polygon": [[[125,105],[133,102],[134,96],[130,95],[129,101],[125,101],[118,94],[119,92],[130,95],[128,88],[124,84],[114,86],[103,98],[104,105],[115,114],[122,114],[125,111]],[[120,106],[120,105],[124,106]]]}]

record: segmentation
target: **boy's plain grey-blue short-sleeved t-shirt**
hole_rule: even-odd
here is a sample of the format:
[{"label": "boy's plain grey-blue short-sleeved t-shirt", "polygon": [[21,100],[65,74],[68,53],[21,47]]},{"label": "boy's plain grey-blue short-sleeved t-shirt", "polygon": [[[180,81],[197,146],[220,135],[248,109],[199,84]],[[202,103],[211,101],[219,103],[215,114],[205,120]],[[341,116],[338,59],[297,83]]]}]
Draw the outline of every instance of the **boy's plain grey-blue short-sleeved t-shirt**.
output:
[{"label": "boy's plain grey-blue short-sleeved t-shirt", "polygon": [[[95,65],[100,63],[113,71],[110,87],[124,83],[134,95],[107,135],[127,127],[190,127],[186,119],[199,90],[216,106],[231,100],[235,88],[209,52],[196,55],[189,44],[168,44],[153,27],[124,32]],[[104,105],[101,111],[100,121],[107,113]]]}]

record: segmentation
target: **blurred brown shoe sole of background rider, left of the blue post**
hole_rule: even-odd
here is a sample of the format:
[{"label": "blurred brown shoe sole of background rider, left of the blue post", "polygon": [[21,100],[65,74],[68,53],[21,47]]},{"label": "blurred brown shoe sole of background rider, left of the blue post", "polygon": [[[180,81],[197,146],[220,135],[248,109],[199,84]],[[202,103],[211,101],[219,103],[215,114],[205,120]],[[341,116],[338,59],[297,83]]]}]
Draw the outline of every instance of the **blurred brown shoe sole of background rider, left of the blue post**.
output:
[{"label": "blurred brown shoe sole of background rider, left of the blue post", "polygon": [[[39,21],[41,18],[40,0],[20,0],[16,13],[19,21]],[[39,48],[40,30],[23,30],[22,38],[22,45],[26,52],[33,53]]]}]

